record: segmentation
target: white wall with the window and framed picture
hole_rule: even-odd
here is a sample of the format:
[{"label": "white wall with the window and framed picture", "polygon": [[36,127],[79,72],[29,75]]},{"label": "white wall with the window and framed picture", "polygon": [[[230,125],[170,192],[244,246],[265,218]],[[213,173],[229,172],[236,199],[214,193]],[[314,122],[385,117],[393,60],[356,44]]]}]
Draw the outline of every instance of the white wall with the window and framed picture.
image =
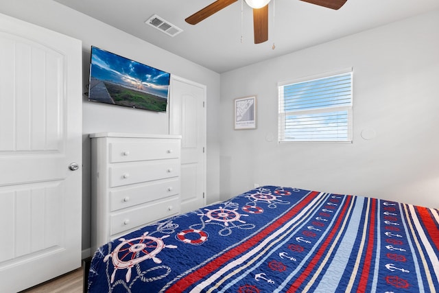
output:
[{"label": "white wall with the window and framed picture", "polygon": [[[223,73],[222,198],[259,183],[438,208],[438,27],[436,10]],[[346,67],[353,143],[277,143],[276,83]],[[233,99],[248,95],[257,95],[257,130],[233,130]]]}]

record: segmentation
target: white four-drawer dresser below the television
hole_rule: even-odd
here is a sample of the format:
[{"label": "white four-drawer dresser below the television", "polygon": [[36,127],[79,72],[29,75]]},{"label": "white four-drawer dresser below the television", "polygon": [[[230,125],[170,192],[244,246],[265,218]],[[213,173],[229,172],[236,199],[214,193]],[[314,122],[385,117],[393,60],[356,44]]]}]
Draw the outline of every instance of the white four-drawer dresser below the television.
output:
[{"label": "white four-drawer dresser below the television", "polygon": [[180,136],[104,132],[90,138],[93,251],[180,213]]}]

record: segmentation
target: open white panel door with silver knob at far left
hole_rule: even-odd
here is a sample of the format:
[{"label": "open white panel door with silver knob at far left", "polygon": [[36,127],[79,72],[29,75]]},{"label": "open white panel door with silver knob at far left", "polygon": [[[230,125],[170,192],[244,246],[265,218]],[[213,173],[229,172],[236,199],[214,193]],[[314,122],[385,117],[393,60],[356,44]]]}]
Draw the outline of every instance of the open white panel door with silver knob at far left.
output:
[{"label": "open white panel door with silver knob at far left", "polygon": [[0,14],[1,292],[81,266],[81,47]]}]

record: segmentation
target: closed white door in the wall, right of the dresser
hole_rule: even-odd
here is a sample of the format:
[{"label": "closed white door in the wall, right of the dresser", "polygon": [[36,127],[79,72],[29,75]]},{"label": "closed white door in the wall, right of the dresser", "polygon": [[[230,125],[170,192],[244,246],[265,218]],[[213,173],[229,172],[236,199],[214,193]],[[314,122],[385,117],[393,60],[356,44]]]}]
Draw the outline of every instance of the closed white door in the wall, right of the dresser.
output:
[{"label": "closed white door in the wall, right of the dresser", "polygon": [[181,140],[182,213],[206,205],[206,86],[171,77],[169,132]]}]

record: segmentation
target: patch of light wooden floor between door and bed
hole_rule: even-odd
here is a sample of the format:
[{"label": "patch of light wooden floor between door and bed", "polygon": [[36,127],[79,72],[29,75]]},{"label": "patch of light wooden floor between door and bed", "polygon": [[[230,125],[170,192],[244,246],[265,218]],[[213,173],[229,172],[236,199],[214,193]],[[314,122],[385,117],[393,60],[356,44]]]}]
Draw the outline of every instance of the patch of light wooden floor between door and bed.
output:
[{"label": "patch of light wooden floor between door and bed", "polygon": [[78,268],[62,276],[36,285],[21,293],[82,293],[83,268]]}]

